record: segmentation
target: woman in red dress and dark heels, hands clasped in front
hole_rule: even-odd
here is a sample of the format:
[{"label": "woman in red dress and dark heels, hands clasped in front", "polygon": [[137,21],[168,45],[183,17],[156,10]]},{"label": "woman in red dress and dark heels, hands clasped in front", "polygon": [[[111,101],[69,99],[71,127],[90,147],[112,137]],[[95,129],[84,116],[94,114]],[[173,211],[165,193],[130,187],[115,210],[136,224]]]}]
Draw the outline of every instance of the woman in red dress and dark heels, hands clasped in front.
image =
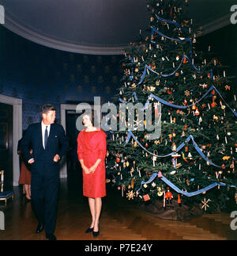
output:
[{"label": "woman in red dress and dark heels, hands clasped in front", "polygon": [[81,163],[83,174],[83,195],[88,197],[88,204],[92,215],[92,223],[86,233],[99,235],[99,218],[102,207],[101,197],[106,196],[105,185],[105,155],[106,134],[93,125],[92,117],[84,114],[85,129],[77,137],[77,155]]}]

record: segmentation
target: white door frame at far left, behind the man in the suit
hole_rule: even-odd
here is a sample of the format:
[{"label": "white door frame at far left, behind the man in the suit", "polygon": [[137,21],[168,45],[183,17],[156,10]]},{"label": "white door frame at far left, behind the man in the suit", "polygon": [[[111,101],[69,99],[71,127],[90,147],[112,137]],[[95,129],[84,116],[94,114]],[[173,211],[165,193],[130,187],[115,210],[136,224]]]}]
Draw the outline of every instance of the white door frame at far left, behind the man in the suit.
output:
[{"label": "white door frame at far left, behind the man in the suit", "polygon": [[0,94],[0,102],[13,106],[13,186],[18,186],[20,178],[20,159],[17,145],[22,137],[22,100]]}]

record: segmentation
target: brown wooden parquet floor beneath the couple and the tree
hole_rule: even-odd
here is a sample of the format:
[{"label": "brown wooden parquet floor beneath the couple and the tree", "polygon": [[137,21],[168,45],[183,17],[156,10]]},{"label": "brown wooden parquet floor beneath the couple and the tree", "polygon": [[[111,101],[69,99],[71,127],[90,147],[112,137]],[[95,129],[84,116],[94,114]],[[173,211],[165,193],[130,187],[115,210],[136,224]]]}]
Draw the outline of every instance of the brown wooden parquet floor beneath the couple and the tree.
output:
[{"label": "brown wooden parquet floor beneath the couple and the tree", "polygon": [[[103,198],[100,235],[94,238],[91,233],[85,234],[91,219],[81,187],[77,173],[61,180],[55,230],[58,240],[237,240],[228,213],[205,214],[186,222],[161,220],[110,187]],[[45,240],[44,231],[35,233],[37,220],[31,202],[25,201],[18,187],[13,192],[14,201],[9,200],[6,205],[0,202],[0,211],[5,214],[0,240]]]}]

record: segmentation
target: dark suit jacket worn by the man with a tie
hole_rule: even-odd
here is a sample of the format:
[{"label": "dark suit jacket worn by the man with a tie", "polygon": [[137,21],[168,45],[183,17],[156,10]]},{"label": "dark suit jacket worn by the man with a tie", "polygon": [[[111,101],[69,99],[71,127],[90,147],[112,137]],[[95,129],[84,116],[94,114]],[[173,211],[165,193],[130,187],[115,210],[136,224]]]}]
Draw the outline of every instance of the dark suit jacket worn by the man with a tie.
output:
[{"label": "dark suit jacket worn by the man with a tie", "polygon": [[[33,151],[32,155],[29,153],[31,148]],[[29,125],[21,141],[21,151],[24,159],[26,161],[32,158],[35,160],[31,165],[32,174],[34,172],[43,172],[42,163],[49,167],[47,170],[52,170],[53,172],[54,170],[59,171],[59,164],[58,162],[54,162],[54,157],[58,154],[61,159],[68,148],[68,139],[60,124],[51,124],[45,149],[43,148],[41,122]]]}]

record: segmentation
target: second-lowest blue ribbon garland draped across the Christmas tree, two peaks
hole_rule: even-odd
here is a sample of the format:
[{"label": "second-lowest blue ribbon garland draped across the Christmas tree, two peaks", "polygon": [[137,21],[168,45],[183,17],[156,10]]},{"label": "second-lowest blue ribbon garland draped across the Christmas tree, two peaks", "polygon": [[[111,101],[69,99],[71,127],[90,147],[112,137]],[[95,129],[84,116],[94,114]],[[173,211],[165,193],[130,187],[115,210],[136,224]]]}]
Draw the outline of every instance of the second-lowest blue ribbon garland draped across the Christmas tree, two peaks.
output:
[{"label": "second-lowest blue ribbon garland draped across the Christmas tree, two peaks", "polygon": [[[133,137],[134,140],[137,142],[137,144],[138,144],[140,147],[142,147],[145,151],[147,151],[149,154],[154,155],[154,156],[156,156],[156,157],[160,157],[160,158],[165,158],[165,157],[167,157],[167,156],[174,155],[175,153],[179,152],[179,151],[182,149],[182,147],[185,146],[185,143],[181,143],[181,144],[179,145],[179,147],[176,148],[176,151],[172,151],[170,154],[167,154],[167,155],[155,155],[155,154],[153,154],[152,152],[146,150],[145,147],[143,147],[143,146],[141,145],[141,143],[137,140],[137,138],[134,136],[133,132],[131,132],[131,131],[128,132],[128,135],[127,135],[127,137],[126,137],[126,141],[123,143],[124,146],[126,146],[126,144],[130,141],[130,137]],[[188,136],[188,137],[186,138],[186,143],[190,142],[190,139],[193,141],[193,146],[194,146],[195,150],[198,151],[198,154],[201,155],[201,157],[202,157],[203,159],[205,159],[206,162],[209,162],[211,165],[216,166],[216,167],[218,167],[218,168],[222,168],[221,166],[217,166],[215,163],[213,163],[211,160],[209,160],[209,159],[203,154],[203,152],[201,151],[201,148],[198,147],[198,144],[194,141],[194,137],[193,137],[192,135],[190,135],[190,136]]]}]

